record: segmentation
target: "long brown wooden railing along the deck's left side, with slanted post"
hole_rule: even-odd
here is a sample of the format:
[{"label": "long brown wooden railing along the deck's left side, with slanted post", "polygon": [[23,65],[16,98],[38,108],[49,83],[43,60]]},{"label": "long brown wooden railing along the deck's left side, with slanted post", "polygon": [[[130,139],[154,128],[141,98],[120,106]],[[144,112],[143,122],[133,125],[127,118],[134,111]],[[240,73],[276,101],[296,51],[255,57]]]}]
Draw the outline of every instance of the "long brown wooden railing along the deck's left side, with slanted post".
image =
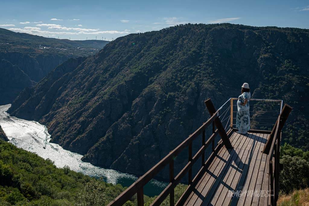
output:
[{"label": "long brown wooden railing along the deck's left side, with slanted post", "polygon": [[[202,174],[202,170],[207,167],[212,159],[214,158],[218,149],[222,147],[224,144],[226,148],[232,148],[231,142],[228,138],[228,133],[224,130],[222,123],[219,119],[218,111],[215,110],[213,103],[210,99],[205,101],[206,107],[211,115],[209,120],[207,120],[200,128],[198,128],[193,134],[191,134],[186,140],[184,140],[180,145],[178,145],[174,150],[172,150],[166,157],[164,157],[159,163],[153,166],[150,170],[148,170],[144,175],[142,175],[138,180],[129,186],[125,191],[123,191],[118,197],[116,197],[111,203],[108,205],[122,205],[125,204],[134,194],[137,193],[137,202],[138,206],[144,205],[144,192],[143,187],[146,183],[148,183],[151,179],[155,177],[167,164],[169,165],[169,184],[165,189],[158,195],[155,201],[151,205],[160,205],[165,198],[170,195],[170,205],[174,205],[174,188],[180,182],[180,180],[188,174],[188,184],[186,191],[180,197],[179,201],[176,205],[181,205],[181,201],[184,200],[184,197],[189,194],[190,189],[193,187],[193,183],[198,181],[198,178]],[[205,141],[205,129],[212,124],[213,131],[211,136]],[[217,128],[216,130],[214,128]],[[232,131],[232,129],[230,129]],[[201,148],[197,151],[197,153],[193,156],[192,154],[192,143],[193,141],[202,134]],[[221,141],[215,147],[214,145],[214,138],[217,135],[221,136]],[[210,154],[209,158],[205,161],[205,149],[212,144],[212,153]],[[188,163],[184,168],[174,177],[174,159],[177,155],[188,147]],[[197,173],[197,175],[193,178],[192,175],[192,167],[193,164],[197,162],[198,158],[201,157],[201,169]]]}]

